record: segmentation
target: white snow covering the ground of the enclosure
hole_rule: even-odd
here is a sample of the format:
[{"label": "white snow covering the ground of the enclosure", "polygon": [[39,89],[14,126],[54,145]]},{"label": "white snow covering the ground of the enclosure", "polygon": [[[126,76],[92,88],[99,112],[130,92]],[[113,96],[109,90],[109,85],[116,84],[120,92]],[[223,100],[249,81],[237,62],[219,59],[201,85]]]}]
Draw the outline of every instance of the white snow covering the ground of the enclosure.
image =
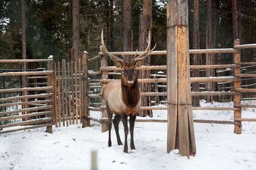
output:
[{"label": "white snow covering the ground of the enclosure", "polygon": [[[256,101],[252,101],[255,103]],[[207,107],[232,107],[228,103],[206,103]],[[159,105],[156,107],[165,107]],[[153,118],[166,119],[167,111],[153,112]],[[197,120],[232,120],[232,111],[193,111]],[[243,109],[243,117],[256,118],[255,109]],[[92,117],[100,117],[92,112]],[[151,119],[146,117],[147,119]],[[91,151],[97,151],[98,169],[256,169],[256,123],[244,122],[241,135],[234,125],[194,123],[196,156],[167,153],[167,123],[135,123],[135,147],[123,153],[112,128],[112,147],[108,132],[99,124],[25,130],[0,135],[0,169],[91,169]],[[124,141],[123,124],[120,137]],[[129,136],[130,137],[130,136]],[[129,138],[130,139],[130,138]]]}]

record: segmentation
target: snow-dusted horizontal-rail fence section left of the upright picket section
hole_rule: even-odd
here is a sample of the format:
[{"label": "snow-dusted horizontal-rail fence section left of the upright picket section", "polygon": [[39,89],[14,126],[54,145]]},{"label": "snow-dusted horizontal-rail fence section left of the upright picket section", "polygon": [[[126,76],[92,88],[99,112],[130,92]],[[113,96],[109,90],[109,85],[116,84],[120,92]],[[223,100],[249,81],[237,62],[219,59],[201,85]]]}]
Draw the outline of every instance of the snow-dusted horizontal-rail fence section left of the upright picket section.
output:
[{"label": "snow-dusted horizontal-rail fence section left of the upright picket section", "polygon": [[[7,65],[27,64],[28,62],[47,62],[48,67],[47,70],[43,71],[7,71],[0,73],[0,77],[10,79],[8,88],[0,89],[0,134],[38,127],[46,127],[47,132],[52,132],[54,120],[53,57],[50,56],[48,59],[0,60],[1,64]],[[29,87],[20,87],[12,83],[14,77],[22,76],[30,80]],[[38,80],[43,82],[38,82]]]}]

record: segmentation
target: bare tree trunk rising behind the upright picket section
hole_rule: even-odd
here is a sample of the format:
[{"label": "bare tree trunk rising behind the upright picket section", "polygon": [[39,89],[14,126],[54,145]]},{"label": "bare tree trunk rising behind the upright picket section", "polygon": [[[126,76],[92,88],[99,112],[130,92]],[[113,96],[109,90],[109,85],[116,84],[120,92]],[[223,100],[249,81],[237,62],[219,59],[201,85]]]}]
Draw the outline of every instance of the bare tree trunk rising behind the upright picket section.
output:
[{"label": "bare tree trunk rising behind the upright picket section", "polygon": [[78,61],[80,55],[79,2],[79,0],[72,0],[72,47],[74,48],[74,55],[71,56],[71,61]]}]

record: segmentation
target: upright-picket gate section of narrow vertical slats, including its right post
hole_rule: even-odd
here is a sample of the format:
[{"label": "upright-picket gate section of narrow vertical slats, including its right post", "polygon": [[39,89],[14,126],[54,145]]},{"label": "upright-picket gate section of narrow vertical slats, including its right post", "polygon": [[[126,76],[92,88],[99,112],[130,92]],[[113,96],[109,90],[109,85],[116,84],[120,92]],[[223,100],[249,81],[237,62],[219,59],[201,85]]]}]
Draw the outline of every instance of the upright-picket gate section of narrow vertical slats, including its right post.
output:
[{"label": "upright-picket gate section of narrow vertical slats, including its right post", "polygon": [[89,125],[87,53],[75,62],[54,63],[54,110],[56,127]]}]

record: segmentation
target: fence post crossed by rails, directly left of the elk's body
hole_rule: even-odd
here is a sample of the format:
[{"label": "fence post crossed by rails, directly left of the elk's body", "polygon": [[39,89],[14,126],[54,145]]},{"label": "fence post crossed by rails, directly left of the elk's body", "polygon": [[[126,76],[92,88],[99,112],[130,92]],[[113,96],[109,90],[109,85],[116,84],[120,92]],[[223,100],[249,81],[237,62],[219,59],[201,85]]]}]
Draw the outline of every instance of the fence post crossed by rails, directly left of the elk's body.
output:
[{"label": "fence post crossed by rails, directly left of the elk's body", "polygon": [[[107,67],[107,58],[105,55],[101,55],[101,67]],[[101,79],[108,79],[108,74],[107,74],[107,71],[102,71],[101,73]],[[107,83],[101,83],[101,91],[103,90],[103,88],[105,87]],[[101,105],[102,106],[106,106],[106,101],[101,98]],[[101,110],[102,112],[102,116],[101,118],[107,118],[107,111],[106,109],[102,109]],[[108,130],[108,127],[107,127],[107,121],[103,121],[101,123],[101,132],[106,132]]]}]

